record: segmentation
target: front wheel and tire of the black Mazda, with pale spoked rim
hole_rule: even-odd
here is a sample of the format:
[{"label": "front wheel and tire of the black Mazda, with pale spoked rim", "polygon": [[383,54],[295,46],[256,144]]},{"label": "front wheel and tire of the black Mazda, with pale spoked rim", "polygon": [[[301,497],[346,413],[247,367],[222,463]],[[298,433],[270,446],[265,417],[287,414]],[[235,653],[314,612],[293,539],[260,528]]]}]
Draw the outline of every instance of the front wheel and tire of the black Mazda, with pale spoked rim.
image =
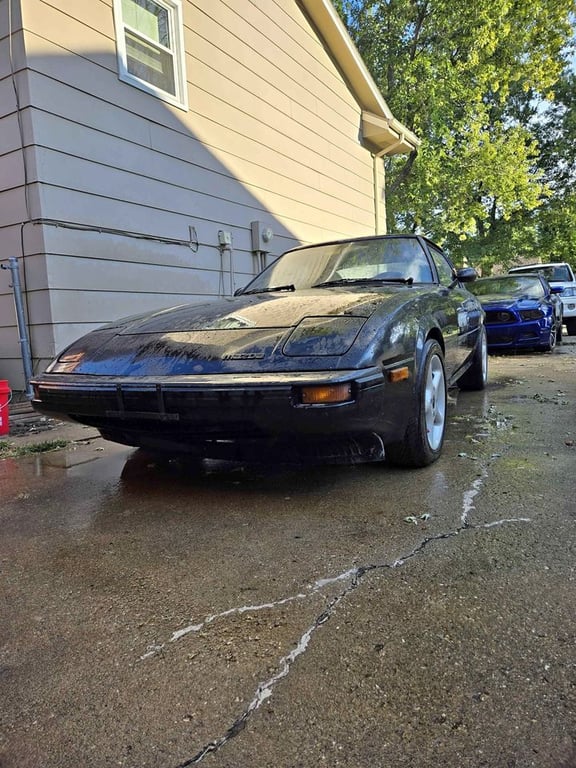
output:
[{"label": "front wheel and tire of the black Mazda, with pale spoked rim", "polygon": [[397,467],[426,467],[439,458],[446,433],[446,373],[440,344],[428,339],[416,383],[415,413],[403,440],[385,446],[386,460]]}]

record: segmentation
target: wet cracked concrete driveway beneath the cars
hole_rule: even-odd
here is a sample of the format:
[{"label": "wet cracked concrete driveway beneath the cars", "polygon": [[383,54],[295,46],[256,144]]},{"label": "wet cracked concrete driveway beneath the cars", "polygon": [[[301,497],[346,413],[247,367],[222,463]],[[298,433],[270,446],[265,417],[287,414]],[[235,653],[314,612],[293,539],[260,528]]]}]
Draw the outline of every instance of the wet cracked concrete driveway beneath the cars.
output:
[{"label": "wet cracked concrete driveway beneath the cars", "polygon": [[2,768],[576,766],[575,366],[416,472],[0,461]]}]

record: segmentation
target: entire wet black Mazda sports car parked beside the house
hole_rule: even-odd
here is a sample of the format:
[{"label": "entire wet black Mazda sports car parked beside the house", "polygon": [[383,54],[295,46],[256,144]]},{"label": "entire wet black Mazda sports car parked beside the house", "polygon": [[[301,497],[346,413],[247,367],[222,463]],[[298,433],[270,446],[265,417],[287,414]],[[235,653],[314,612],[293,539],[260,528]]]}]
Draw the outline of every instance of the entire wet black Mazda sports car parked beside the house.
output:
[{"label": "entire wet black Mazda sports car parked beside the house", "polygon": [[447,387],[486,383],[475,277],[417,236],[295,248],[234,297],[92,331],[32,382],[33,405],[199,459],[425,466]]}]

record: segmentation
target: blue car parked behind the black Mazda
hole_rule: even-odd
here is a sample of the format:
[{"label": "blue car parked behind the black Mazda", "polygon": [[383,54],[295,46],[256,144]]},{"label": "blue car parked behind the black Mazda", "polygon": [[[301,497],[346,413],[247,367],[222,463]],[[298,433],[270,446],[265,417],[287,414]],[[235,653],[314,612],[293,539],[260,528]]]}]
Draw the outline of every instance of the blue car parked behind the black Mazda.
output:
[{"label": "blue car parked behind the black Mazda", "polygon": [[468,290],[486,312],[488,349],[536,349],[550,352],[562,336],[558,290],[542,275],[483,277]]}]

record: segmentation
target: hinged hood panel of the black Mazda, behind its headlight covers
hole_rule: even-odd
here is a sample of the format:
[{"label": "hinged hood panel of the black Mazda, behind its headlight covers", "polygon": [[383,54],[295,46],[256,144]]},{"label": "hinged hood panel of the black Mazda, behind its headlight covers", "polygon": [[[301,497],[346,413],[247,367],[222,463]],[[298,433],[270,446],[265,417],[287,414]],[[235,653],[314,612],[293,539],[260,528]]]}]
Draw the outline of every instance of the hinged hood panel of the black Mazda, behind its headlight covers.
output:
[{"label": "hinged hood panel of the black Mazda, behind its headlight covers", "polygon": [[392,310],[398,304],[401,293],[398,288],[383,289],[377,295],[365,291],[318,289],[298,293],[237,296],[163,310],[129,323],[120,333],[289,328],[311,316],[370,317],[383,302],[390,302]]}]

